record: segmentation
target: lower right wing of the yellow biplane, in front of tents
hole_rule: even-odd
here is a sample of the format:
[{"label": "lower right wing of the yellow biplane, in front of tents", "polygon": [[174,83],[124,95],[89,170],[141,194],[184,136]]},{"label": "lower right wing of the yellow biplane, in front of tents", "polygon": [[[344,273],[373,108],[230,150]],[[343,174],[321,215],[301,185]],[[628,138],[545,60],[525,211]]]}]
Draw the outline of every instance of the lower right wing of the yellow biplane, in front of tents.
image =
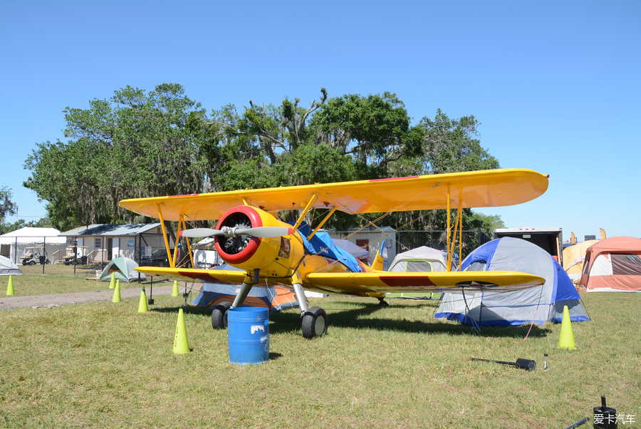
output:
[{"label": "lower right wing of the yellow biplane, in front of tents", "polygon": [[515,291],[545,279],[512,271],[311,273],[303,286],[338,293],[413,291]]}]

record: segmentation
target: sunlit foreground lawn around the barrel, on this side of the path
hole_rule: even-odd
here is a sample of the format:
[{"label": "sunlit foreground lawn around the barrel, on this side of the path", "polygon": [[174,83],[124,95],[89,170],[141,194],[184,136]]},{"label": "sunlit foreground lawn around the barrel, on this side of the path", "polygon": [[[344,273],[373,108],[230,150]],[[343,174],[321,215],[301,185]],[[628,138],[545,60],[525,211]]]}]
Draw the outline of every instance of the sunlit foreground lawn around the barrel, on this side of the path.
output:
[{"label": "sunlit foreground lawn around the barrel, on this side of the path", "polygon": [[306,340],[297,310],[273,314],[272,358],[254,366],[229,364],[226,331],[192,308],[193,351],[173,355],[179,298],[147,314],[135,299],[1,311],[0,426],[561,428],[602,394],[641,420],[640,299],[587,294],[575,351],[556,348],[559,325],[476,336],[433,319],[430,301],[317,299],[328,335]]}]

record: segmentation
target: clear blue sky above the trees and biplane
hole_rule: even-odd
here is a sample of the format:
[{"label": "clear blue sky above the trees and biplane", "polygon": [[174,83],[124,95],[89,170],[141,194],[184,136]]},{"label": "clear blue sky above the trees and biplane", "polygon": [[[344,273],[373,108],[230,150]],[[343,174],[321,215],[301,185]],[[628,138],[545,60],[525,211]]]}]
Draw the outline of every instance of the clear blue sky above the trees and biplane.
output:
[{"label": "clear blue sky above the trees and biplane", "polygon": [[1,185],[19,214],[36,143],[66,106],[181,83],[208,109],[392,91],[416,123],[475,115],[501,167],[550,174],[508,227],[641,237],[639,1],[12,1],[0,3]]}]

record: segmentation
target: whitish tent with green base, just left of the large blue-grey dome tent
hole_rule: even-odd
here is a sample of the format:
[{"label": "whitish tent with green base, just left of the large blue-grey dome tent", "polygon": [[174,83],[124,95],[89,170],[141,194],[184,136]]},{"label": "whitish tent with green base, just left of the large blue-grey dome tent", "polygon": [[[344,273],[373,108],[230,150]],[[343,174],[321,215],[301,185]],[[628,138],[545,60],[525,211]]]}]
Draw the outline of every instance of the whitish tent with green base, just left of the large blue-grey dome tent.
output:
[{"label": "whitish tent with green base, just left of the large blue-grey dome tent", "polygon": [[[432,247],[421,246],[407,252],[397,254],[390,264],[390,272],[444,272],[447,265],[447,254]],[[429,292],[390,292],[385,294],[390,298],[425,298],[437,299],[439,293]]]}]

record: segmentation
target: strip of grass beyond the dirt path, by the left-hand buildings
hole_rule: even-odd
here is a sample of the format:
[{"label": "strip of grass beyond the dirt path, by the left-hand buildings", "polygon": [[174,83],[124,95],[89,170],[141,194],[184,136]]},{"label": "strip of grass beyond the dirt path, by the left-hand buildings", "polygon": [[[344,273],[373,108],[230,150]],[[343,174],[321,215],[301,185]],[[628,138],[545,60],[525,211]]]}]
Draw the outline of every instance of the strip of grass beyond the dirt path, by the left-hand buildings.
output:
[{"label": "strip of grass beyond the dirt path, by the left-hand buildings", "polygon": [[[21,266],[21,276],[12,276],[16,296],[63,294],[66,292],[86,292],[107,289],[109,283],[95,279],[95,270],[98,265],[78,265],[75,274],[73,265],[47,264],[42,274],[42,265]],[[88,279],[90,278],[90,279]],[[1,276],[0,291],[4,295],[6,283],[9,279]],[[168,283],[165,283],[168,284]],[[136,282],[121,282],[120,287],[140,287]]]}]

